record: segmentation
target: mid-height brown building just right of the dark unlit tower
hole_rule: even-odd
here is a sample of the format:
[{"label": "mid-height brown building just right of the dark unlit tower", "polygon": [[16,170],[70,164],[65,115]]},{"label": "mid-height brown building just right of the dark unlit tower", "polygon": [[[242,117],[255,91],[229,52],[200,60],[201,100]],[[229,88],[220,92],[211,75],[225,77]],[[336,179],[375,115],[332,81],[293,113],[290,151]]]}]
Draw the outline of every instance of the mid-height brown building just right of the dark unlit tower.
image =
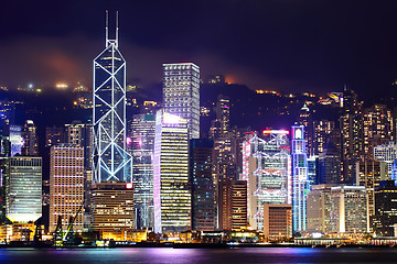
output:
[{"label": "mid-height brown building just right of the dark unlit tower", "polygon": [[219,230],[238,230],[247,227],[247,182],[219,183]]}]

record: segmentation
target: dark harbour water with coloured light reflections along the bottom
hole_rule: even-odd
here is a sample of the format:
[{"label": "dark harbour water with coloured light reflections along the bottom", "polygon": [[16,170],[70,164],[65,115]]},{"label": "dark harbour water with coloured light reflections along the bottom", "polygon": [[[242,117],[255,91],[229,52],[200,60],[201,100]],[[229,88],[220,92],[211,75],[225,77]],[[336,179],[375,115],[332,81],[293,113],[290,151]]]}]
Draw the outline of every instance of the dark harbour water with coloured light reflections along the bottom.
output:
[{"label": "dark harbour water with coloured light reflections along the bottom", "polygon": [[397,263],[397,249],[0,249],[0,264]]}]

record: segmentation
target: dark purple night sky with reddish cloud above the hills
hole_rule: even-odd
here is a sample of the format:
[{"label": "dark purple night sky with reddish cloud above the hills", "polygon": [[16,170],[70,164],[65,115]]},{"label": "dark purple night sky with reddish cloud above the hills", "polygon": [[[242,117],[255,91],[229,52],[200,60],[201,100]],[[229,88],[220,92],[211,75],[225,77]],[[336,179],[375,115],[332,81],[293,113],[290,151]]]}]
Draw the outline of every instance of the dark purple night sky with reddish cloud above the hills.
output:
[{"label": "dark purple night sky with reddish cloud above the hills", "polygon": [[0,86],[90,86],[105,10],[110,25],[119,10],[127,79],[143,88],[161,81],[162,63],[194,62],[202,78],[251,89],[397,89],[397,1],[346,0],[3,1]]}]

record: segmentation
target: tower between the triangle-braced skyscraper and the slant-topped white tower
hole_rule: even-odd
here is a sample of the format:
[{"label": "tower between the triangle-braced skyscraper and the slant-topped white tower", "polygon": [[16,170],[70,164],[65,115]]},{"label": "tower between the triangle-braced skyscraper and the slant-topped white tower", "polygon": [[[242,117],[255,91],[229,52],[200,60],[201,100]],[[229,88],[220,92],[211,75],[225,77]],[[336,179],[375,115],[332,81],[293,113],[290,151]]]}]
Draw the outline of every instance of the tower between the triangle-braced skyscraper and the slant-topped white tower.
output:
[{"label": "tower between the triangle-braced skyscraper and the slant-topped white tower", "polygon": [[132,183],[136,228],[154,227],[153,150],[155,114],[133,114],[131,124]]}]

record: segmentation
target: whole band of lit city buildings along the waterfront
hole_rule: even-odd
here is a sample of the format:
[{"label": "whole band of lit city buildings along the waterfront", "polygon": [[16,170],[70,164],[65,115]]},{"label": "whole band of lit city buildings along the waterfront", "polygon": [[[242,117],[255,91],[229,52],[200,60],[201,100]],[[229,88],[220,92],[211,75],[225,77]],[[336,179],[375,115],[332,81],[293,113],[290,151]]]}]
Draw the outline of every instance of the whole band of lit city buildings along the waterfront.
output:
[{"label": "whole band of lit city buildings along the waterfront", "polygon": [[163,64],[162,82],[162,108],[148,101],[128,117],[116,34],[94,59],[93,122],[47,128],[47,163],[32,120],[6,122],[0,239],[32,240],[44,223],[53,238],[95,231],[119,241],[190,230],[271,241],[395,235],[396,117],[386,106],[364,109],[346,88],[323,100],[337,117],[319,118],[308,102],[291,128],[258,132],[232,127],[230,99],[219,95],[201,138],[198,66]]}]

